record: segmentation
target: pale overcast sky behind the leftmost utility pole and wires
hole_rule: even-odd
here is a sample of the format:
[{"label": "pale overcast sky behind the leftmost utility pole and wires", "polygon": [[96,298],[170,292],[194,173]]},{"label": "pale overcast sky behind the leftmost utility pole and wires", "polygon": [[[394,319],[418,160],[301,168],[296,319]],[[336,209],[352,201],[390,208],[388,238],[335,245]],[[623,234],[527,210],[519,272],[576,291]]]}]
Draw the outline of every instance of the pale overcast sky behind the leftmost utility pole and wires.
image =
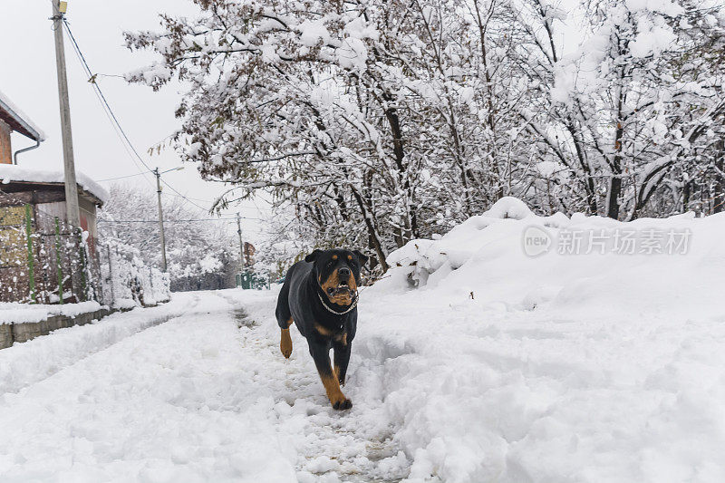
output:
[{"label": "pale overcast sky behind the leftmost utility pole and wires", "polygon": [[[47,136],[39,149],[21,154],[18,164],[29,168],[63,169],[55,51],[52,22],[49,20],[51,2],[3,0],[2,4],[0,91]],[[66,16],[92,71],[121,75],[150,63],[154,58],[151,53],[131,53],[126,49],[123,45],[124,31],[157,29],[160,12],[192,15],[195,11],[195,6],[187,0],[70,0]],[[76,169],[93,179],[140,172],[103,112],[67,36],[65,56]],[[161,170],[180,166],[179,157],[172,149],[151,157],[147,150],[179,129],[180,122],[174,117],[174,111],[179,104],[182,86],[171,84],[160,92],[152,92],[149,87],[129,84],[118,77],[99,76],[98,82],[121,126],[147,164],[158,166]],[[32,144],[31,140],[16,133],[13,136],[13,150]],[[196,167],[189,164],[183,170],[165,174],[164,179],[189,198],[195,198],[194,201],[203,207],[209,207],[215,195],[223,190],[218,183],[203,181]],[[152,192],[156,189],[152,176],[138,176],[129,181]],[[102,185],[109,186],[109,182]],[[237,209],[242,216],[259,217],[255,203],[230,208],[229,213],[234,214]],[[257,241],[259,222],[246,220],[243,230],[246,237]]]}]

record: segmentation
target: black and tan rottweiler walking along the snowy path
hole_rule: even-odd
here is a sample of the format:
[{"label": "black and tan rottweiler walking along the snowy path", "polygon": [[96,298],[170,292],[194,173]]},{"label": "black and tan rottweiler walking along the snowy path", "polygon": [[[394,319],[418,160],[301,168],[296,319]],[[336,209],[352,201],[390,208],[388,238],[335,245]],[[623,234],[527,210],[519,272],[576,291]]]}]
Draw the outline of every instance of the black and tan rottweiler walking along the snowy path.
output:
[{"label": "black and tan rottweiler walking along the snowy path", "polygon": [[[277,298],[276,318],[282,329],[279,348],[289,358],[289,327],[307,339],[310,354],[336,410],[353,407],[340,385],[345,383],[350,350],[357,327],[357,287],[360,268],[368,261],[359,250],[314,250],[304,262],[291,266]],[[330,366],[330,349],[334,367]]]}]

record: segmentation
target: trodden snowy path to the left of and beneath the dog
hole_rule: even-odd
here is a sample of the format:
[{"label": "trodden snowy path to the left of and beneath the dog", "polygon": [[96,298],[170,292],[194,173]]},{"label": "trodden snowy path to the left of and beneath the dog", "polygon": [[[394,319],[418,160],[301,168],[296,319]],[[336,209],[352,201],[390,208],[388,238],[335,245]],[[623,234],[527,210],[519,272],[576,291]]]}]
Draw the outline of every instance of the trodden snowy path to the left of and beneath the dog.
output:
[{"label": "trodden snowy path to the left of and beneath the dog", "polygon": [[[0,479],[375,479],[374,461],[394,454],[374,424],[381,401],[333,411],[304,341],[295,337],[286,361],[270,327],[250,318],[274,297],[259,295],[256,307],[247,293],[242,306],[231,293],[180,295],[172,304],[186,314],[5,393]],[[87,339],[102,324],[51,337]]]}]

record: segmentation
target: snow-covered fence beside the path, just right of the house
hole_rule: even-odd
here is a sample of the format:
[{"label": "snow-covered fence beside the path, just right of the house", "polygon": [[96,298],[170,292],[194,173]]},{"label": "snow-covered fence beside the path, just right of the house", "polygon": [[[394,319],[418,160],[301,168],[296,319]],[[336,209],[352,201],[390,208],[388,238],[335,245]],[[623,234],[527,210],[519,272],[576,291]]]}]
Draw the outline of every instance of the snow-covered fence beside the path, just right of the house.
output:
[{"label": "snow-covered fence beside the path, just right of the house", "polygon": [[149,266],[139,250],[107,237],[101,243],[103,300],[118,308],[149,306],[170,298],[169,275]]}]

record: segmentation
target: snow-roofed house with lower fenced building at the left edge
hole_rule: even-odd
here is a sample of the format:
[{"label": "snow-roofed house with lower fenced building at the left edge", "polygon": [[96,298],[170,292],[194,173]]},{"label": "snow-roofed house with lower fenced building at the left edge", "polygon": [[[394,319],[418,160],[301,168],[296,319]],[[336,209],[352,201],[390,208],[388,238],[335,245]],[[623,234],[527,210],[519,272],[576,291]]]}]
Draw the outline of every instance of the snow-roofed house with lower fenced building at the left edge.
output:
[{"label": "snow-roofed house with lower fenced building at the left edge", "polygon": [[[106,191],[77,173],[81,227],[87,248],[65,223],[63,170],[30,169],[14,160],[11,133],[44,139],[21,111],[0,92],[0,302],[51,304],[94,297],[98,272],[96,209]],[[59,167],[63,162],[58,159]]]}]

